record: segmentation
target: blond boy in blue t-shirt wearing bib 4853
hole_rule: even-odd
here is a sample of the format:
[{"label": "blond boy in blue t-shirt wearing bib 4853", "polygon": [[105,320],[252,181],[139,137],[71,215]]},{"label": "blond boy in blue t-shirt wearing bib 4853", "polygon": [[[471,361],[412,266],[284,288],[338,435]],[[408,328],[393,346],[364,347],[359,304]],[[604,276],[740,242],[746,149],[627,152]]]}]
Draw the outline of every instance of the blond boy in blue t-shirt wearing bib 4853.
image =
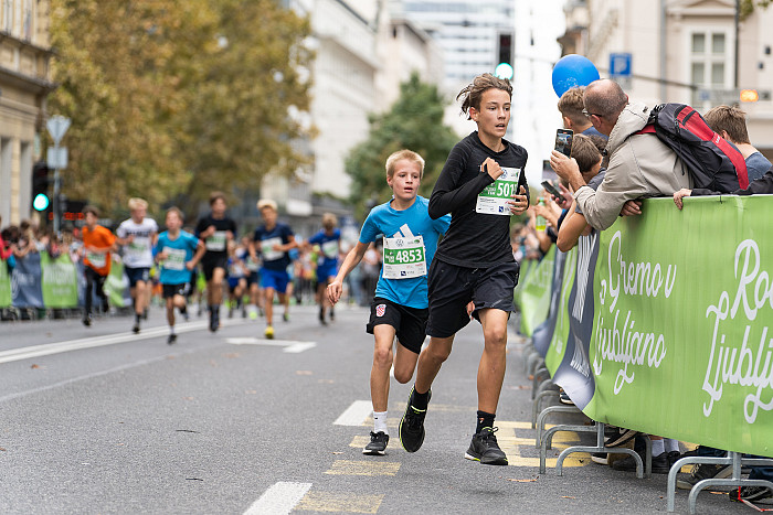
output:
[{"label": "blond boy in blue t-shirt wearing bib 4853", "polygon": [[[328,299],[335,304],[341,298],[347,273],[362,260],[368,246],[384,236],[384,262],[366,328],[374,337],[370,372],[373,431],[363,454],[385,454],[390,368],[394,363],[394,378],[399,383],[405,384],[413,377],[426,330],[426,271],[437,240],[451,223],[449,215],[432,219],[427,213],[428,201],[417,196],[423,173],[424,160],[410,150],[400,150],[386,159],[386,183],[393,197],[370,212],[362,224],[359,242],[328,286]],[[393,354],[395,335],[400,345]]]}]

